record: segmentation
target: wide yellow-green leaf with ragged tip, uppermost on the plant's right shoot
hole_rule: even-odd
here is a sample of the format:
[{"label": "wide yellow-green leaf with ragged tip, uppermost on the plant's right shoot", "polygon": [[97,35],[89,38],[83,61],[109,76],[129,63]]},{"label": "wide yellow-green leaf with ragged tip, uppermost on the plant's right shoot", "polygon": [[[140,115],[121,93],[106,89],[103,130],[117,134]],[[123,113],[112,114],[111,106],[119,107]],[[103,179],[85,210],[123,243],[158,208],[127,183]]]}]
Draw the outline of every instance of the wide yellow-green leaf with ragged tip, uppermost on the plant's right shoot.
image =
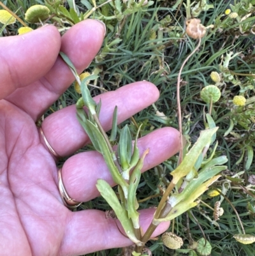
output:
[{"label": "wide yellow-green leaf with ragged tip, uppermost on the plant's right shoot", "polygon": [[177,169],[171,172],[171,175],[173,176],[174,184],[177,184],[179,179],[186,176],[190,172],[190,170],[193,168],[194,164],[196,163],[198,156],[203,150],[203,147],[205,147],[208,143],[210,143],[212,135],[214,135],[214,133],[217,130],[218,128],[215,127],[213,129],[204,130],[200,132],[200,137],[198,138],[197,142],[193,145],[193,147],[191,147],[191,150],[186,154],[182,163],[179,165],[179,167],[177,167]]}]

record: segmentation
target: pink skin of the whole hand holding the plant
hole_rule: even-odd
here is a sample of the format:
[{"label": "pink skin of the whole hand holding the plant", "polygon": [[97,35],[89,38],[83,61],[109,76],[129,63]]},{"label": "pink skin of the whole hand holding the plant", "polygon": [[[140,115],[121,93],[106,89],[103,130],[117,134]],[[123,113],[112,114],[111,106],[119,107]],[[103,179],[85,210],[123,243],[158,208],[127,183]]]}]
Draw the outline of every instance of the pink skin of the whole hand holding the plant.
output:
[{"label": "pink skin of the whole hand holding the plant", "polygon": [[[74,78],[58,57],[69,56],[82,72],[98,53],[103,24],[85,20],[64,36],[54,26],[21,36],[0,38],[0,252],[1,255],[82,255],[132,245],[115,220],[98,210],[72,212],[62,204],[57,187],[56,159],[38,133],[35,121],[68,89]],[[119,123],[156,102],[159,91],[149,82],[135,82],[101,98],[101,123],[109,130],[115,105]],[[43,132],[54,150],[69,156],[88,142],[69,106],[48,116]],[[142,171],[177,153],[179,133],[162,128],[139,140],[140,152],[149,147]],[[62,179],[71,198],[86,202],[99,195],[98,178],[114,185],[99,153],[68,158]],[[155,209],[140,211],[143,230]],[[157,236],[168,229],[162,223]]]}]

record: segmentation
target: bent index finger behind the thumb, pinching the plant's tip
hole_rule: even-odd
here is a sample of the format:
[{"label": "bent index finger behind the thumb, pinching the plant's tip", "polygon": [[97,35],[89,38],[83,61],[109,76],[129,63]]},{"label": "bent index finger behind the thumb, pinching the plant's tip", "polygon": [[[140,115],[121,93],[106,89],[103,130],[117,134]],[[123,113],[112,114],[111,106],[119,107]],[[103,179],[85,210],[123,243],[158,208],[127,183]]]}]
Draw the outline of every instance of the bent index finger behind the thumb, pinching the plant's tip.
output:
[{"label": "bent index finger behind the thumb, pinching the plant's tip", "polygon": [[[60,50],[71,59],[80,73],[89,66],[98,53],[104,35],[105,26],[101,22],[84,20],[71,27],[62,36]],[[48,54],[45,54],[46,57]],[[44,77],[13,93],[8,100],[18,105],[36,120],[68,89],[73,80],[75,80],[73,74],[66,63],[62,61],[61,57],[57,57],[54,66]]]}]

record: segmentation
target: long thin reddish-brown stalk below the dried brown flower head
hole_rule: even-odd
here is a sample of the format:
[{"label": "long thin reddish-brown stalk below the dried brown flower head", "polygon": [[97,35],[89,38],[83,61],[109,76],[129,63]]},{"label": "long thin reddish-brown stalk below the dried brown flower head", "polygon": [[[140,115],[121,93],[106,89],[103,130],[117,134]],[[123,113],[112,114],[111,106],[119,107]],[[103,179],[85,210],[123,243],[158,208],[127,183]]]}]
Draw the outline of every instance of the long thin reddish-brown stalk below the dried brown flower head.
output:
[{"label": "long thin reddish-brown stalk below the dried brown flower head", "polygon": [[180,165],[180,163],[182,163],[182,158],[183,158],[182,109],[181,109],[181,106],[180,106],[180,75],[182,74],[182,70],[184,68],[184,65],[187,63],[189,58],[191,56],[193,56],[193,54],[196,52],[196,50],[198,50],[198,48],[200,47],[200,43],[201,43],[201,38],[199,38],[198,45],[193,50],[193,52],[191,52],[191,54],[189,54],[189,56],[187,56],[186,59],[184,60],[184,62],[182,63],[182,66],[180,67],[180,71],[179,71],[178,78],[177,78],[177,108],[178,108],[178,124],[179,124],[179,133],[180,133],[179,165]]}]

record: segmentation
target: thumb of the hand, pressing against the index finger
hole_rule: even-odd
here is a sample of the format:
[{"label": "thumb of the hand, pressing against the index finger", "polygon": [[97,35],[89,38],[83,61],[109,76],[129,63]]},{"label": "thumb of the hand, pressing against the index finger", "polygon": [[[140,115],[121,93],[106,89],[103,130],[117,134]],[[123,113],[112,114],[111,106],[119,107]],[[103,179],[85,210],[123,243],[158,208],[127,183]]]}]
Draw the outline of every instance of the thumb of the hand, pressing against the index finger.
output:
[{"label": "thumb of the hand, pressing against the index finger", "polygon": [[45,75],[55,63],[60,47],[61,37],[54,26],[1,38],[0,99]]}]

